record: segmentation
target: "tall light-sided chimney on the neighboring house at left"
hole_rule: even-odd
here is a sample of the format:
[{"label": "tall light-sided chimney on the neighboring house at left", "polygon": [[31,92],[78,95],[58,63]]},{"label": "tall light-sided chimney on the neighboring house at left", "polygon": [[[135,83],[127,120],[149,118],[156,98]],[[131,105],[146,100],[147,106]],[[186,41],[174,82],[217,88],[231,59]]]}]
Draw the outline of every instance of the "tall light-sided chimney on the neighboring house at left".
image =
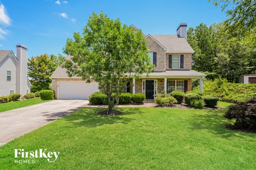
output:
[{"label": "tall light-sided chimney on the neighboring house at left", "polygon": [[22,44],[16,45],[17,50],[17,92],[22,96],[27,93],[28,73],[27,73],[27,47]]}]

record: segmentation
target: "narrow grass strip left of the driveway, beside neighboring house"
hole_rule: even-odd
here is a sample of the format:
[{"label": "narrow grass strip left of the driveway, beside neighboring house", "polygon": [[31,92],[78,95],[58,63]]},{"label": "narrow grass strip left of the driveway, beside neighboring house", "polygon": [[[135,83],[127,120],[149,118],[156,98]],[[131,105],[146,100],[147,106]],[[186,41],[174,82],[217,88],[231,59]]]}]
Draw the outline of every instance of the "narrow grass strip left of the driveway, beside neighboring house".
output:
[{"label": "narrow grass strip left of the driveway, beside neighboring house", "polygon": [[49,101],[49,100],[42,100],[41,98],[36,97],[33,99],[26,99],[26,100],[21,100],[21,101],[12,101],[12,102],[8,102],[8,103],[2,103],[2,104],[0,104],[0,112],[10,111],[12,109],[16,109],[16,108],[20,108],[20,107],[44,103],[46,101]]}]

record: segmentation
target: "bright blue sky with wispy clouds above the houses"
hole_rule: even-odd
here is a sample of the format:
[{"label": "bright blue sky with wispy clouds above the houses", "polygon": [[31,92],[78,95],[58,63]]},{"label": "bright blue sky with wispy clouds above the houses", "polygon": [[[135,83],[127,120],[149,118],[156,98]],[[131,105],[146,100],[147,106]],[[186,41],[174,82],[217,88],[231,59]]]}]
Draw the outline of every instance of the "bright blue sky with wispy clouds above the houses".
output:
[{"label": "bright blue sky with wispy clouds above the houses", "polygon": [[44,53],[63,54],[67,38],[82,32],[92,12],[142,29],[146,35],[175,34],[178,25],[211,25],[226,19],[226,13],[207,0],[183,1],[87,1],[0,0],[0,49],[28,47],[28,57]]}]

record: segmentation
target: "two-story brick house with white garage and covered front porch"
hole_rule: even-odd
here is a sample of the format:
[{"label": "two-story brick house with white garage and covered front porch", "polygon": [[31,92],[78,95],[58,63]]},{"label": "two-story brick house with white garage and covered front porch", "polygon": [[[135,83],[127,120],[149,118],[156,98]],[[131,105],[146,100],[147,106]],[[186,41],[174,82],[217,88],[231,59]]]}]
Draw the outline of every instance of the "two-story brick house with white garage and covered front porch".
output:
[{"label": "two-story brick house with white garage and covered front porch", "polygon": [[[138,29],[131,26],[134,31]],[[192,79],[200,79],[200,90],[203,91],[202,79],[205,74],[191,70],[194,50],[187,43],[187,24],[181,23],[177,35],[145,36],[151,62],[155,72],[145,74],[141,79],[127,83],[125,92],[143,93],[146,99],[154,99],[159,92],[169,94],[173,90],[184,92],[191,90]],[[71,56],[67,56],[70,59]],[[81,78],[69,78],[66,69],[60,66],[51,75],[52,89],[57,99],[88,99],[98,90],[98,83],[85,83]]]}]

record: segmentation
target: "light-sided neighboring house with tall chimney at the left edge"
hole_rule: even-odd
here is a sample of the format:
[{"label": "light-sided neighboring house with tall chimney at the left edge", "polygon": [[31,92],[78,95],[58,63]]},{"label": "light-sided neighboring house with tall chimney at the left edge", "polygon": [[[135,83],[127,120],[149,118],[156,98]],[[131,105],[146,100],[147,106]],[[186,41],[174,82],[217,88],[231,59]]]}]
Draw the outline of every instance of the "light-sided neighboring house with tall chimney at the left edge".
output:
[{"label": "light-sided neighboring house with tall chimney at the left edge", "polygon": [[27,75],[27,47],[17,44],[17,56],[12,50],[0,50],[0,96],[30,92]]}]

